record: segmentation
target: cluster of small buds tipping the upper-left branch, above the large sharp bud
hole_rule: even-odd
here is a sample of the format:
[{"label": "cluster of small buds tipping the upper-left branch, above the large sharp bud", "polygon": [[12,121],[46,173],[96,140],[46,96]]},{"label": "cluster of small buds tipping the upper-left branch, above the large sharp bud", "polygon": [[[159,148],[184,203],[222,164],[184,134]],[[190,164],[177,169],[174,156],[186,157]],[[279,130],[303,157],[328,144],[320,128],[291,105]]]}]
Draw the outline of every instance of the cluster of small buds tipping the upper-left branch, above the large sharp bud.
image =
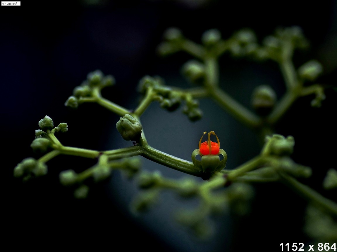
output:
[{"label": "cluster of small buds tipping the upper-left branch, above the large sharp bud", "polygon": [[73,90],[73,95],[64,103],[65,106],[76,109],[79,104],[84,102],[84,98],[95,97],[100,90],[107,86],[115,84],[115,78],[112,75],[104,76],[100,70],[96,70],[87,75],[87,79]]}]

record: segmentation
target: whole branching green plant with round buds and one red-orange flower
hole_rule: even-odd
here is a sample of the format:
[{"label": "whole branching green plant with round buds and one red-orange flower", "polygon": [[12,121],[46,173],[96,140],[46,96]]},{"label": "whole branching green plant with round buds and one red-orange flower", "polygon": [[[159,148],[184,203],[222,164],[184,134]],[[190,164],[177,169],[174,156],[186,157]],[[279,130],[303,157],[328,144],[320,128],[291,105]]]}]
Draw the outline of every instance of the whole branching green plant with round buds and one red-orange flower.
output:
[{"label": "whole branching green plant with round buds and one red-orange flower", "polygon": [[[166,189],[175,191],[182,197],[198,198],[200,200],[198,207],[180,211],[176,218],[188,226],[195,235],[204,238],[214,232],[209,220],[210,215],[222,213],[227,208],[231,208],[238,215],[249,212],[249,202],[253,198],[250,183],[281,181],[310,203],[307,233],[316,238],[317,242],[335,241],[336,223],[332,220],[337,216],[336,203],[297,180],[301,177],[310,177],[311,169],[297,164],[290,157],[294,150],[294,137],[275,134],[274,129],[280,118],[298,98],[314,94],[311,105],[315,107],[319,107],[321,101],[325,99],[324,86],[315,83],[323,71],[319,62],[311,60],[298,69],[292,62],[294,50],[307,46],[301,29],[298,27],[278,29],[273,36],[266,37],[262,45],[257,43],[254,33],[247,29],[238,31],[228,39],[222,39],[217,30],[208,30],[203,34],[202,45],[184,38],[177,28],[167,30],[164,39],[165,41],[158,47],[160,54],[185,51],[196,58],[184,64],[182,72],[190,82],[198,85],[197,87],[175,88],[165,85],[159,77],[145,76],[138,86],[143,98],[134,110],[129,110],[102,97],[102,88],[114,85],[115,80],[112,76],[104,76],[97,70],[89,73],[87,80],[81,86],[75,87],[73,95],[65,102],[65,105],[71,108],[78,108],[85,102],[96,102],[119,115],[121,118],[116,124],[116,129],[122,138],[132,141],[133,146],[108,151],[64,146],[55,134],[66,132],[68,125],[60,123],[54,127],[53,120],[45,116],[39,121],[40,129],[36,130],[36,137],[31,147],[35,152],[46,154],[38,159],[23,160],[14,168],[14,176],[28,180],[45,175],[46,162],[61,154],[97,158],[96,165],[81,172],[75,172],[73,169],[60,172],[61,184],[71,187],[76,198],[87,196],[88,180],[98,182],[108,178],[112,170],[121,170],[128,177],[136,175],[140,187],[144,188],[144,192],[131,203],[134,212],[148,209],[156,201],[160,191]],[[286,84],[285,94],[277,101],[273,89],[261,85],[256,87],[252,94],[252,105],[256,113],[242,106],[220,87],[218,59],[224,53],[258,61],[275,61]],[[213,131],[209,132],[206,142],[202,143],[202,138],[200,139],[199,148],[191,153],[191,160],[163,153],[147,142],[145,136],[147,131],[142,127],[140,118],[152,102],[159,102],[163,109],[170,112],[177,110],[181,103],[184,103],[182,112],[189,120],[197,121],[203,116],[197,99],[205,97],[216,101],[224,110],[256,132],[263,142],[259,155],[234,169],[233,167],[225,169],[227,154],[225,150],[220,149],[220,141]],[[216,136],[217,142],[211,141],[212,135]],[[195,139],[195,148],[197,140]],[[175,180],[165,178],[159,172],[139,172],[140,162],[134,159],[134,156],[143,156],[207,181],[200,182],[191,176]],[[336,170],[331,169],[328,172],[324,186],[327,189],[336,187]],[[218,190],[219,188],[222,190]],[[322,230],[325,232],[312,231],[314,229],[312,226],[319,225],[323,226]]]}]

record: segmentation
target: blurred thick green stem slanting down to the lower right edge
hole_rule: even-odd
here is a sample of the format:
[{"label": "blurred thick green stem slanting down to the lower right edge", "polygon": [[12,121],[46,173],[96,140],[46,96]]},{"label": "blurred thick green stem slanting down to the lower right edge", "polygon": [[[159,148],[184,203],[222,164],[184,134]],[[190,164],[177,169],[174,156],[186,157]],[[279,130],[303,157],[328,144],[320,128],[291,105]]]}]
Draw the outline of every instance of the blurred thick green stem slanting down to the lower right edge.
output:
[{"label": "blurred thick green stem slanting down to the lower right edge", "polygon": [[292,190],[297,192],[304,199],[324,207],[329,213],[337,217],[337,204],[335,202],[323,197],[309,186],[300,183],[295,178],[287,175],[284,172],[279,172],[279,175],[282,179],[282,182],[292,188]]}]

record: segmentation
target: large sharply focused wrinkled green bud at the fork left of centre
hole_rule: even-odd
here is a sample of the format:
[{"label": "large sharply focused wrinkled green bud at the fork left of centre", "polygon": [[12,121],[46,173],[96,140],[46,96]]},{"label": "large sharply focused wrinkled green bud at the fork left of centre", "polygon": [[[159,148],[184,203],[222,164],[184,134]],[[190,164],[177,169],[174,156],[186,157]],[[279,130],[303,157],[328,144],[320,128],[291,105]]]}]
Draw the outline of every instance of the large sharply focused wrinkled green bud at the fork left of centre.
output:
[{"label": "large sharply focused wrinkled green bud at the fork left of centre", "polygon": [[142,135],[142,125],[132,116],[126,114],[121,117],[116,128],[124,140],[139,142]]}]

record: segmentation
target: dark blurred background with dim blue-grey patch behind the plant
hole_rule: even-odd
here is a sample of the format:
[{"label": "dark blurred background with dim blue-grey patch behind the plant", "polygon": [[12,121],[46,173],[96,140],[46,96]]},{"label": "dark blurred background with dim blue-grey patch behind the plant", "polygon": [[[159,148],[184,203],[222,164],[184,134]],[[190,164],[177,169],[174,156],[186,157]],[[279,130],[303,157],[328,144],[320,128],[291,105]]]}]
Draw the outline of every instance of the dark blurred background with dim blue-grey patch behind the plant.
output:
[{"label": "dark blurred background with dim blue-grey patch behind the plant", "polygon": [[[217,0],[87,0],[67,3],[25,3],[0,8],[1,125],[8,242],[13,247],[56,246],[79,249],[89,245],[112,250],[123,239],[124,249],[148,251],[238,251],[262,246],[277,250],[284,242],[309,242],[302,232],[306,202],[282,184],[255,185],[250,215],[214,219],[213,239],[200,241],[176,224],[172,213],[195,202],[184,202],[172,193],[161,195],[160,204],[149,213],[134,217],[129,203],[138,189],[118,171],[111,179],[90,188],[87,200],[72,198],[72,191],[59,185],[62,170],[80,171],[95,161],[57,157],[48,163],[47,176],[23,184],[12,177],[13,168],[34,156],[30,143],[38,121],[45,115],[54,124],[68,124],[59,134],[64,145],[109,150],[132,145],[116,130],[119,117],[96,104],[83,104],[73,111],[64,106],[75,86],[89,72],[111,74],[116,85],[103,96],[125,108],[137,106],[136,91],[145,75],[159,75],[167,85],[188,88],[180,73],[190,55],[180,52],[167,58],[156,46],[168,27],[180,28],[195,42],[207,29],[219,29],[228,38],[241,28],[251,28],[261,40],[279,26],[302,27],[311,45],[296,52],[296,67],[317,59],[324,66],[319,83],[329,84],[323,107],[311,108],[313,97],[301,98],[282,118],[279,134],[295,137],[296,162],[313,168],[310,179],[301,180],[318,192],[326,171],[336,168],[336,67],[337,1],[316,5],[278,1],[269,3]],[[255,86],[271,85],[280,98],[284,84],[277,65],[258,64],[224,55],[220,60],[221,85],[239,102],[250,106]],[[202,132],[215,131],[233,169],[261,150],[258,137],[209,99],[200,100],[202,120],[190,122],[180,110],[169,113],[154,102],[142,116],[148,142],[163,152],[190,160]],[[143,169],[172,178],[187,176],[142,159]],[[201,179],[195,178],[197,181]],[[311,243],[310,243],[311,244]]]}]

